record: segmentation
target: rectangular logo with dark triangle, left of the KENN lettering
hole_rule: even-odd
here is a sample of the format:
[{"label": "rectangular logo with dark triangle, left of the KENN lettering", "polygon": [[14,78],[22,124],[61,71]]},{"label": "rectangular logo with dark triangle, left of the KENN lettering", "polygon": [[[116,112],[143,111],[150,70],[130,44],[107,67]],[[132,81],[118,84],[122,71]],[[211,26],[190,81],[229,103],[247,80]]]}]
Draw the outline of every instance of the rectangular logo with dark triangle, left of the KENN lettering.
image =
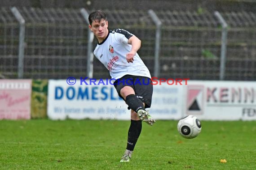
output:
[{"label": "rectangular logo with dark triangle, left of the KENN lettering", "polygon": [[187,115],[202,115],[203,114],[203,85],[188,85],[187,86]]}]

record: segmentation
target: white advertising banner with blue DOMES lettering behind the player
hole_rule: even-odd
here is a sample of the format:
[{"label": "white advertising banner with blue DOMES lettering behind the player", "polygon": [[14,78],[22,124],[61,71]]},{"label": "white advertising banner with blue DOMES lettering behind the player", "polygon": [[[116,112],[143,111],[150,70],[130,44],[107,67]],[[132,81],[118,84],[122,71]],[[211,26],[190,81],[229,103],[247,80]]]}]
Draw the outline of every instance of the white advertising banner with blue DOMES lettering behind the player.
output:
[{"label": "white advertising banner with blue DOMES lettering behind the player", "polygon": [[[107,82],[103,80],[102,82]],[[182,85],[153,85],[150,114],[154,119],[180,119]],[[130,119],[130,110],[114,85],[68,85],[49,80],[47,115],[50,119]]]}]

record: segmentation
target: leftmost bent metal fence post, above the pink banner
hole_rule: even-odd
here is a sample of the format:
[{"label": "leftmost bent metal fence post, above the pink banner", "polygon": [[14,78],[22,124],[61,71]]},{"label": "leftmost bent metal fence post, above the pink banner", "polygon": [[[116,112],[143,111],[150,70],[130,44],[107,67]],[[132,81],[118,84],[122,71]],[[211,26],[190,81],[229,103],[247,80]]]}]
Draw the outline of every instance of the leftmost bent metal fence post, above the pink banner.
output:
[{"label": "leftmost bent metal fence post, above the pink banner", "polygon": [[24,72],[24,41],[25,41],[25,20],[22,17],[21,13],[16,7],[12,7],[11,11],[15,18],[20,24],[19,31],[19,54],[18,54],[18,78],[23,78]]}]

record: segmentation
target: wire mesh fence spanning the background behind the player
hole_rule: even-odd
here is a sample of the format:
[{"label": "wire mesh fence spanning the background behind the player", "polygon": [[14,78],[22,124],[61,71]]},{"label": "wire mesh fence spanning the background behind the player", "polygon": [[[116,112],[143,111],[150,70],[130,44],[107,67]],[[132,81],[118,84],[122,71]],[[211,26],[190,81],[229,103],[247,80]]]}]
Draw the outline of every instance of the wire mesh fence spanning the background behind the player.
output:
[{"label": "wire mesh fence spanning the background behind the player", "polygon": [[[88,24],[80,9],[18,8],[25,21],[23,78],[86,76]],[[88,13],[91,11],[86,10]],[[109,29],[123,28],[142,40],[138,51],[154,75],[156,26],[148,11],[108,10]],[[214,13],[160,11],[159,77],[219,80],[222,27]],[[0,9],[0,75],[18,78],[20,24]],[[256,80],[256,13],[221,13],[228,27],[224,80]],[[93,47],[97,44],[96,38]],[[108,78],[97,59],[93,77]]]}]

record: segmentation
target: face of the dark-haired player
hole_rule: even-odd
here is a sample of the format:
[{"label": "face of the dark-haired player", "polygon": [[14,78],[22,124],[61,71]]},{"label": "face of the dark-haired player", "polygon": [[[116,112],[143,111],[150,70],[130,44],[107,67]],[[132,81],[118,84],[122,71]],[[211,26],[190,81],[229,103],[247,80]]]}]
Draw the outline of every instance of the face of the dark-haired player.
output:
[{"label": "face of the dark-haired player", "polygon": [[93,31],[93,34],[97,37],[99,43],[101,43],[108,34],[108,22],[106,20],[93,21],[89,28]]}]

